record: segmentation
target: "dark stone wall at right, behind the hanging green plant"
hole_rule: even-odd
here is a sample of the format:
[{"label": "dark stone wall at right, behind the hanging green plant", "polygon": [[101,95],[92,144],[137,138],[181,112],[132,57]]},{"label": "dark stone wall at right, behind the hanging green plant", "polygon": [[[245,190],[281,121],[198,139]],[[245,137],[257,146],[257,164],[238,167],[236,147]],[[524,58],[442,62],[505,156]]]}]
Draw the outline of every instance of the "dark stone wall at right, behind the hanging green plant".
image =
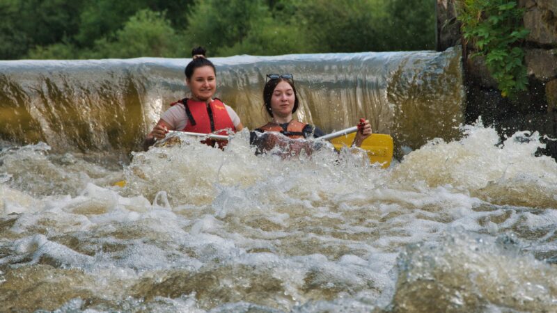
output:
[{"label": "dark stone wall at right, behind the hanging green plant", "polygon": [[[479,116],[503,133],[540,131],[557,138],[557,0],[519,0],[525,9],[523,24],[530,34],[525,49],[528,91],[511,100],[501,96],[482,58],[471,58],[472,45],[464,42],[457,22],[457,0],[437,0],[437,49],[461,45],[466,86],[466,122]],[[547,154],[557,156],[557,145]],[[554,150],[554,151],[551,151]]]}]

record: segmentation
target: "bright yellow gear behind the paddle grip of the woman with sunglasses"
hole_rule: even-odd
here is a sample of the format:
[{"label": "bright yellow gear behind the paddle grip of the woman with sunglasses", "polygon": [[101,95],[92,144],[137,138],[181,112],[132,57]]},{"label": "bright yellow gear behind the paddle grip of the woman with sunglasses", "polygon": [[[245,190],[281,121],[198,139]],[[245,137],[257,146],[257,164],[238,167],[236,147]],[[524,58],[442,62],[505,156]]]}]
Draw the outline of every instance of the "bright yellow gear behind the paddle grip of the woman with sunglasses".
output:
[{"label": "bright yellow gear behind the paddle grip of the woman with sunglasses", "polygon": [[[348,134],[331,139],[336,150],[345,145],[350,147],[356,134]],[[370,163],[380,163],[382,168],[388,168],[393,159],[393,137],[386,134],[372,134],[361,144],[361,148],[368,152]]]}]

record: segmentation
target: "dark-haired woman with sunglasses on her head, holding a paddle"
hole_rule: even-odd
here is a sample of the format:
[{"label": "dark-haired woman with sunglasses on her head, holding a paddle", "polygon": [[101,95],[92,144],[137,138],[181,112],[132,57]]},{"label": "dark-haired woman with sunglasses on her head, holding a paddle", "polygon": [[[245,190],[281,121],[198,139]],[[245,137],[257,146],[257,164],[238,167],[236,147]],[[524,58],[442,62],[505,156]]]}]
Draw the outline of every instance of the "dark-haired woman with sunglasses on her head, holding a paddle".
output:
[{"label": "dark-haired woman with sunglasses on her head, holding a paddle", "polygon": [[[269,80],[265,83],[265,88],[263,88],[263,102],[272,120],[255,130],[261,133],[277,131],[292,139],[318,138],[323,136],[324,134],[321,129],[294,119],[293,114],[298,109],[299,101],[292,74],[268,74],[267,79]],[[363,141],[371,134],[369,121],[362,121],[352,145],[356,147],[361,146]],[[251,135],[251,143],[257,145],[259,150],[267,151],[271,150],[275,145],[284,146],[276,136],[257,136],[257,134],[253,133]]]}]

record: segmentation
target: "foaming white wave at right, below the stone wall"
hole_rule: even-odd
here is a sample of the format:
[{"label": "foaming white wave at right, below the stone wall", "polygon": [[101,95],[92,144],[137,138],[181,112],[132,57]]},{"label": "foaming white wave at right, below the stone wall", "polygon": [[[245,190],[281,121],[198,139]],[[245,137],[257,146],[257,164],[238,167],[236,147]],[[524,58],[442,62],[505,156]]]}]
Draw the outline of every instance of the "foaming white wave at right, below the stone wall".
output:
[{"label": "foaming white wave at right, below the stone wall", "polygon": [[494,204],[557,207],[557,163],[535,157],[538,133],[517,132],[502,143],[495,129],[463,128],[464,138],[434,140],[405,157],[392,178],[428,186],[450,185]]}]

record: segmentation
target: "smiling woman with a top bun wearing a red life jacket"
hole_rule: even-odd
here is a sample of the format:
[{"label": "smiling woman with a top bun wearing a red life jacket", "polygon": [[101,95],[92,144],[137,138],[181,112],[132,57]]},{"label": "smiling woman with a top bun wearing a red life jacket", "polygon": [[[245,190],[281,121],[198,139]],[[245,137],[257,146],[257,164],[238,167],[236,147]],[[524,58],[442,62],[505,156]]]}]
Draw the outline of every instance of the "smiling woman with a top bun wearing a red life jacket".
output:
[{"label": "smiling woman with a top bun wearing a red life jacket", "polygon": [[[174,102],[170,109],[162,113],[159,122],[143,143],[145,150],[158,139],[163,139],[169,130],[226,135],[244,128],[230,106],[223,104],[220,99],[213,98],[217,89],[217,71],[213,63],[205,58],[205,49],[195,48],[191,55],[194,59],[185,69],[185,83],[191,90],[191,98]],[[215,145],[215,141],[210,139],[203,143]],[[223,144],[219,142],[219,147],[223,147]]]}]

